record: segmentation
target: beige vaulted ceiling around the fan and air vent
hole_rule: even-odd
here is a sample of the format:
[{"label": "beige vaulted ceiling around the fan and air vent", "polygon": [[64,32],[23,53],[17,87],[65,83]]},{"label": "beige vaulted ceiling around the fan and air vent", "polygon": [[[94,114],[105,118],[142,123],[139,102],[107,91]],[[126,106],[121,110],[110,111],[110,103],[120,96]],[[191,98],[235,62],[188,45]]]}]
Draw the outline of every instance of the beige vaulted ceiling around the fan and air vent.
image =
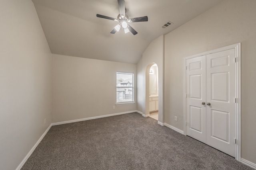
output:
[{"label": "beige vaulted ceiling around the fan and air vent", "polygon": [[[117,18],[117,0],[32,0],[54,54],[136,64],[150,42],[169,33],[223,0],[125,0],[130,18],[148,16],[130,25],[137,35],[110,31]],[[162,28],[166,22],[173,24]]]}]

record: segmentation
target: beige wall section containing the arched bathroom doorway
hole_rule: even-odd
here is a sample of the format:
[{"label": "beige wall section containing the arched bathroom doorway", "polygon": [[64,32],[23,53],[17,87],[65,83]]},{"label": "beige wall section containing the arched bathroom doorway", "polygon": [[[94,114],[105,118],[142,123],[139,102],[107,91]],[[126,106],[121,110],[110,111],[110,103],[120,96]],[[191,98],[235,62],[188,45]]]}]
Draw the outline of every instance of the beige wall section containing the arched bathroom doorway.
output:
[{"label": "beige wall section containing the arched bathroom doorway", "polygon": [[137,64],[138,69],[138,110],[144,115],[149,115],[149,70],[152,64],[156,63],[158,66],[158,121],[163,123],[163,62],[164,62],[164,35],[153,40],[147,49],[144,51],[142,58]]}]

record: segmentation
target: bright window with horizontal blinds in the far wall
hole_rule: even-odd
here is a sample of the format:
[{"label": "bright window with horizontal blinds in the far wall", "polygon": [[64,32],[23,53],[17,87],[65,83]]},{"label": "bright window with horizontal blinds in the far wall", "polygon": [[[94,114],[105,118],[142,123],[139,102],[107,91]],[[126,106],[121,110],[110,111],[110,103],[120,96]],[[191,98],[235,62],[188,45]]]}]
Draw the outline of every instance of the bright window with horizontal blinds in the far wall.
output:
[{"label": "bright window with horizontal blinds in the far wall", "polygon": [[116,72],[116,103],[134,102],[134,74]]}]

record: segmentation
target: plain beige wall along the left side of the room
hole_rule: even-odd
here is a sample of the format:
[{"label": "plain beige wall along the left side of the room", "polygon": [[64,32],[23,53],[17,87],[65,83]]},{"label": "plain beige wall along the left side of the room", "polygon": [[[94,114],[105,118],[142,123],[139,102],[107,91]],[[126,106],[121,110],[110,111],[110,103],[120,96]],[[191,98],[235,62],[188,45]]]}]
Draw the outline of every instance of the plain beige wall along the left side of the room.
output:
[{"label": "plain beige wall along the left side of the room", "polygon": [[52,122],[52,59],[31,0],[1,0],[0,30],[0,169],[14,170]]}]

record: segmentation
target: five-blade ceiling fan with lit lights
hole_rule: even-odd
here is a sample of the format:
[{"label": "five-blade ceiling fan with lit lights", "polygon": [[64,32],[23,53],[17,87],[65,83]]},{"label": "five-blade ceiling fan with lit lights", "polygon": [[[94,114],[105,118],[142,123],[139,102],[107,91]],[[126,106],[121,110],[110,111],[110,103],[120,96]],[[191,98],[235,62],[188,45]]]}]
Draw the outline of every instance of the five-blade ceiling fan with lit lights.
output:
[{"label": "five-blade ceiling fan with lit lights", "polygon": [[124,6],[124,0],[117,0],[118,6],[119,6],[119,12],[120,14],[116,18],[108,17],[108,16],[103,16],[100,14],[97,14],[96,16],[98,18],[105,18],[108,20],[114,20],[118,21],[119,23],[114,27],[114,29],[110,32],[112,34],[116,33],[116,31],[119,31],[121,26],[124,28],[124,33],[131,32],[133,35],[136,35],[138,32],[135,31],[128,23],[129,22],[143,22],[143,21],[148,21],[148,16],[143,16],[143,17],[137,17],[137,18],[129,18],[128,15],[126,15],[126,9]]}]

